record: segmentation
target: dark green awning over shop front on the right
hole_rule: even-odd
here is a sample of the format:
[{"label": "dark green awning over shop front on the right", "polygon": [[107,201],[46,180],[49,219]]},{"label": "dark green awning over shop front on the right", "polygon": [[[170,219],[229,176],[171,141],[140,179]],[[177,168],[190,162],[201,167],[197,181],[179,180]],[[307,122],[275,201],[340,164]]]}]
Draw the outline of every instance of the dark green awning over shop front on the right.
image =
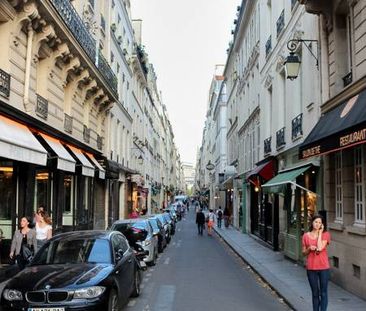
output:
[{"label": "dark green awning over shop front on the right", "polygon": [[[284,192],[286,185],[288,183],[295,184],[296,186],[299,186],[295,183],[296,177],[304,173],[310,165],[294,169],[291,171],[285,171],[283,173],[279,173],[275,177],[273,177],[271,180],[266,182],[264,185],[262,185],[264,192],[272,192],[272,193],[278,193],[278,192]],[[300,187],[303,188],[303,187]],[[307,190],[303,188],[304,190]]]}]

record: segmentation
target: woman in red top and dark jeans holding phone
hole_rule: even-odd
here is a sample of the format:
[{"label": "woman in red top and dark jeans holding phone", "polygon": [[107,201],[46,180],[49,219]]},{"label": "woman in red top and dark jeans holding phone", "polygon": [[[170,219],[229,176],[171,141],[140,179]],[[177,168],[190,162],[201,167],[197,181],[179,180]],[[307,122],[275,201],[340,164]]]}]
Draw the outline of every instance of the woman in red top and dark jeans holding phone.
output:
[{"label": "woman in red top and dark jeans holding phone", "polygon": [[313,311],[326,311],[328,305],[330,234],[324,230],[323,217],[315,215],[309,232],[302,237],[302,253],[307,256],[306,270],[313,297]]}]

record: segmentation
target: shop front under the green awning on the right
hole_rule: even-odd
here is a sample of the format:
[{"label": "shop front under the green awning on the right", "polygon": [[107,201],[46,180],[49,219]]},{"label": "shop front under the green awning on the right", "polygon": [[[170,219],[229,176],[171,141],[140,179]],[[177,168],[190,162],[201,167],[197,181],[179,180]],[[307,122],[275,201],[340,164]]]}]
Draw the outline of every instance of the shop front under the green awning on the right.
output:
[{"label": "shop front under the green awning on the right", "polygon": [[296,261],[302,260],[301,237],[308,230],[310,219],[318,210],[317,166],[307,164],[279,172],[262,185],[268,203],[279,215],[282,209],[284,223],[277,232],[283,240],[284,254]]}]

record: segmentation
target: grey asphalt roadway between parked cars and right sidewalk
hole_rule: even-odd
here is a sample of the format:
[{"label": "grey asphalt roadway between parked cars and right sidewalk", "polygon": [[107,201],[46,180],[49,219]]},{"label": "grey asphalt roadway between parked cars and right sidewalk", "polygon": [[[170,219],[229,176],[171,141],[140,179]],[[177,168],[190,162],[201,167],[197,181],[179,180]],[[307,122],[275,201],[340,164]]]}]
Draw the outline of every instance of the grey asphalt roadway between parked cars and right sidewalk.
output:
[{"label": "grey asphalt roadway between parked cars and right sidewalk", "polygon": [[197,235],[192,209],[142,284],[125,310],[290,310],[217,235]]}]

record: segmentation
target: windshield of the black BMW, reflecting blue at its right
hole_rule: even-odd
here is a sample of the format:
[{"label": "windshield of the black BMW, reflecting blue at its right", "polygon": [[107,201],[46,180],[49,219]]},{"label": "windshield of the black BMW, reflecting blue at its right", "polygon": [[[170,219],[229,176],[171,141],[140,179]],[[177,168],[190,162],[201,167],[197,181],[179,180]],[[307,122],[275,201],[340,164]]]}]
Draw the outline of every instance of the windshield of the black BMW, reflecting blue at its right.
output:
[{"label": "windshield of the black BMW, reflecting blue at its right", "polygon": [[51,241],[34,258],[32,265],[111,263],[111,249],[104,239]]}]

